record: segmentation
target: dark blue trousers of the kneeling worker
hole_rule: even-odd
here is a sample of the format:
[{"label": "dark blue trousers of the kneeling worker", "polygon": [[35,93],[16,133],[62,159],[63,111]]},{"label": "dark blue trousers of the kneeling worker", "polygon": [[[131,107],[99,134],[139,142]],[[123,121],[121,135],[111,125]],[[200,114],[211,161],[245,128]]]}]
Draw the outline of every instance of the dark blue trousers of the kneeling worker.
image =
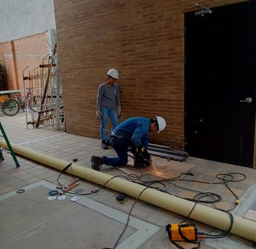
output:
[{"label": "dark blue trousers of the kneeling worker", "polygon": [[131,146],[129,137],[109,137],[109,143],[116,150],[118,157],[103,156],[103,161],[106,165],[112,167],[124,166],[128,163],[128,148]]}]

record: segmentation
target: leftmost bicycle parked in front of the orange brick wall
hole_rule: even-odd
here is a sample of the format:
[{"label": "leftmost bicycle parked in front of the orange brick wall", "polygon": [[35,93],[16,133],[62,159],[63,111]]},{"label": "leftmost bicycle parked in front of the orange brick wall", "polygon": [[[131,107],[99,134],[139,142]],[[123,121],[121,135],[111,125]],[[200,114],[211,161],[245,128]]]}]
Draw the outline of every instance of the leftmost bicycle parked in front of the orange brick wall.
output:
[{"label": "leftmost bicycle parked in front of the orange brick wall", "polygon": [[[27,93],[25,96],[25,100],[22,100],[22,97],[20,94],[12,93],[14,96],[9,97],[8,99],[4,100],[1,104],[1,110],[2,113],[6,116],[15,116],[19,113],[20,109],[25,111],[25,108],[27,106],[26,103],[29,103],[31,100],[31,90],[30,88],[27,88]],[[30,106],[32,103],[30,103]]]}]

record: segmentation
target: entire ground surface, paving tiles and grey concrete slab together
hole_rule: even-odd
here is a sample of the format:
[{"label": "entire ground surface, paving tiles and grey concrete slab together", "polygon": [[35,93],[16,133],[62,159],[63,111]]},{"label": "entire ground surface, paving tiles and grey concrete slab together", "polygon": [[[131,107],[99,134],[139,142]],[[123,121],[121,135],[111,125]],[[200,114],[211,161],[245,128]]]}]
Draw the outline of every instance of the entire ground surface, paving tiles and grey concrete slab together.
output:
[{"label": "entire ground surface, paving tiles and grey concrete slab together", "polygon": [[[23,113],[15,117],[0,118],[11,144],[43,153],[46,158],[54,157],[66,162],[73,162],[76,158],[77,164],[86,169],[91,168],[92,155],[115,155],[113,149],[102,150],[98,139],[71,135],[62,130],[56,131],[55,127],[49,124],[39,128],[27,128]],[[0,163],[0,249],[176,248],[169,241],[165,225],[180,223],[186,217],[161,209],[157,205],[136,201],[136,198],[130,196],[126,196],[125,203],[120,204],[116,201],[116,196],[119,195],[117,191],[84,178],[79,179],[79,185],[72,190],[72,194],[65,195],[65,199],[62,199],[63,195],[52,199],[49,198],[49,191],[56,190],[59,170],[17,154],[20,167],[16,167],[10,153],[4,151],[3,156],[5,160]],[[119,169],[103,167],[101,172],[127,177],[133,181],[134,177],[141,181],[152,181],[161,177],[177,177],[190,171],[193,176],[183,175],[180,181],[165,181],[164,188],[171,195],[180,198],[194,198],[198,192],[214,192],[220,195],[222,200],[215,205],[202,205],[225,210],[231,209],[236,198],[225,184],[216,184],[219,181],[216,175],[233,173],[238,181],[228,185],[241,203],[232,213],[250,222],[256,221],[254,169],[193,157],[184,162],[153,157],[153,162],[153,167],[148,170],[137,170],[132,166]],[[133,161],[130,160],[129,164],[132,165]],[[245,174],[246,177],[243,178],[240,174]],[[71,174],[62,174],[59,182],[68,184],[75,178],[76,176]],[[210,182],[215,184],[209,184]],[[154,187],[162,188],[163,185],[156,184]],[[91,190],[98,188],[100,191],[91,194]],[[19,194],[16,191],[20,189],[23,189],[23,193]],[[80,195],[74,195],[77,194],[75,191],[81,191]],[[90,195],[87,195],[88,193]],[[221,233],[212,226],[197,221],[194,223],[197,224],[197,229],[204,233]],[[123,230],[125,232],[120,237]],[[200,241],[201,248],[205,249],[256,248],[253,241],[233,234],[221,239]],[[180,244],[184,248],[194,247],[184,242]]]}]

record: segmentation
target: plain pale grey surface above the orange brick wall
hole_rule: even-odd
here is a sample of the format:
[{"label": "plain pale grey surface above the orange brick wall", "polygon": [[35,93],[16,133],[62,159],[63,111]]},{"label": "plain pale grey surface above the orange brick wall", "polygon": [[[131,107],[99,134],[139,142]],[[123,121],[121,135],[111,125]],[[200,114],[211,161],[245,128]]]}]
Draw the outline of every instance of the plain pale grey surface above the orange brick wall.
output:
[{"label": "plain pale grey surface above the orange brick wall", "polygon": [[56,29],[53,0],[0,0],[0,42]]}]

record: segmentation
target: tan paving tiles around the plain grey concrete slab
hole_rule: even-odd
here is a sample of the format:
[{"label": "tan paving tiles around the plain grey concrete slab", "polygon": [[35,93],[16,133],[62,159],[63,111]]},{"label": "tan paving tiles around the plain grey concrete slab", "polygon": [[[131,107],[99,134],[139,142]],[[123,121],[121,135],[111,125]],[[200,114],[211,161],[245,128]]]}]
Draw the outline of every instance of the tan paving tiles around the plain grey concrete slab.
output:
[{"label": "tan paving tiles around the plain grey concrete slab", "polygon": [[[26,128],[25,121],[20,117],[19,125],[16,125],[15,118],[12,117],[12,126],[10,124],[10,118],[2,117],[2,123],[4,127],[6,125],[6,132],[8,132],[9,139],[11,142],[16,144],[22,144],[28,149],[38,151],[40,153],[45,153],[48,156],[55,156],[61,160],[66,160],[73,162],[73,158],[78,159],[78,164],[83,167],[91,167],[91,155],[98,156],[115,156],[116,153],[114,149],[103,150],[101,149],[101,143],[99,139],[91,139],[83,136],[77,136],[72,134],[67,134],[62,131],[53,131],[50,126],[41,126],[39,129]],[[23,124],[23,127],[22,127]],[[18,132],[18,128],[22,129],[22,132]],[[12,132],[15,130],[16,132]],[[27,186],[27,184],[37,183],[44,179],[57,185],[56,179],[59,176],[60,171],[53,169],[52,167],[46,167],[40,163],[31,162],[22,156],[18,156],[21,167],[16,168],[15,163],[12,160],[12,156],[8,153],[5,155],[5,160],[0,163],[0,195],[8,193],[17,188],[22,188]],[[235,201],[233,194],[226,188],[222,181],[216,178],[217,174],[228,174],[228,173],[243,173],[246,174],[244,181],[229,183],[230,188],[238,195],[243,197],[244,193],[248,188],[256,184],[256,171],[247,167],[233,166],[227,163],[212,162],[209,160],[197,159],[194,157],[189,157],[185,162],[176,162],[172,160],[165,160],[159,157],[154,157],[154,167],[149,170],[134,170],[132,167],[133,160],[130,160],[129,167],[120,167],[119,169],[114,169],[112,167],[104,167],[103,173],[110,174],[113,176],[134,174],[136,175],[136,181],[138,177],[141,177],[142,181],[151,181],[161,178],[172,178],[177,177],[181,173],[190,170],[194,176],[183,175],[180,181],[166,181],[165,188],[172,195],[178,195],[184,198],[194,198],[198,192],[214,192],[222,196],[222,202],[218,202],[215,205],[221,209],[230,209]],[[25,174],[24,174],[25,173]],[[75,176],[69,174],[62,174],[60,178],[61,182],[66,184],[72,181]],[[191,181],[183,181],[183,180]],[[131,180],[131,179],[130,179]],[[214,182],[219,184],[202,184],[193,182],[206,181]],[[134,179],[132,180],[134,181]],[[162,184],[156,184],[155,187],[162,187]],[[101,188],[98,184],[94,184],[90,181],[85,181],[80,179],[79,188],[83,189],[85,193],[91,191],[91,189]],[[117,196],[116,191],[109,190],[108,188],[101,188],[101,191],[94,195],[89,195],[92,200],[106,204],[109,207],[113,207],[117,210],[129,213],[133,203],[134,198],[127,197],[125,205],[120,205],[116,201]],[[210,207],[214,207],[212,204],[204,204]],[[250,204],[251,205],[251,204]],[[255,202],[251,205],[247,212],[243,213],[246,219],[254,220],[254,211],[256,209]],[[242,206],[242,205],[240,205]],[[240,206],[236,209],[240,209]],[[235,209],[235,211],[236,211]],[[157,249],[169,249],[175,248],[170,244],[169,237],[166,237],[165,225],[167,223],[179,223],[185,219],[185,217],[180,216],[166,210],[159,209],[158,207],[148,205],[147,203],[138,201],[133,209],[133,215],[141,217],[148,222],[155,224],[161,229],[158,233],[155,233],[150,240],[146,241],[140,249],[144,248],[157,248]],[[201,230],[212,232],[212,227],[197,223]],[[219,240],[219,243],[209,244],[206,241],[202,241],[201,248],[204,249],[219,249],[224,248],[220,244],[225,244],[226,240],[229,239],[236,240],[241,243],[241,248],[251,248],[253,244],[250,241],[240,239],[239,237],[230,236],[229,238],[224,238],[223,241]],[[246,247],[244,246],[246,245]],[[186,245],[187,248],[190,248]],[[186,248],[185,247],[185,248]],[[133,248],[135,249],[135,248]],[[225,249],[229,249],[226,247]]]}]

